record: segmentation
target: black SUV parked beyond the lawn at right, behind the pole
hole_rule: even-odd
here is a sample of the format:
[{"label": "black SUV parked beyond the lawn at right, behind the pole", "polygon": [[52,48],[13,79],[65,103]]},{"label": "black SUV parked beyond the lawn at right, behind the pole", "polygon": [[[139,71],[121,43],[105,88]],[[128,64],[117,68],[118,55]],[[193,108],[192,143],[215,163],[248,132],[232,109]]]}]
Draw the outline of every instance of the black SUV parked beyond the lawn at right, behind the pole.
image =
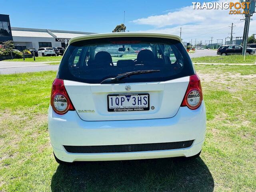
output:
[{"label": "black SUV parked beyond the lawn at right, behind the pole", "polygon": [[[217,55],[241,55],[243,47],[240,45],[222,45],[217,50]],[[246,48],[246,54],[255,54],[254,48]]]}]

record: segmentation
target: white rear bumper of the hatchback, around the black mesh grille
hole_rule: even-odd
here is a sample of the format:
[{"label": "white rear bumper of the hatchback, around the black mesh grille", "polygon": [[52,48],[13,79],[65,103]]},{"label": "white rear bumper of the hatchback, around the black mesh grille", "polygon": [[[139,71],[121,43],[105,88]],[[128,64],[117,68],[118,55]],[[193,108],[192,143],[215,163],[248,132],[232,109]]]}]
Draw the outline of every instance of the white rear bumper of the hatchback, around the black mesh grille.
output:
[{"label": "white rear bumper of the hatchback, around the black mesh grille", "polygon": [[[56,114],[48,112],[50,140],[56,157],[62,161],[132,160],[193,156],[198,154],[206,131],[204,102],[196,110],[180,107],[172,118],[121,121],[84,121],[76,111]],[[63,145],[100,146],[146,144],[194,140],[182,149],[118,153],[69,153]]]}]

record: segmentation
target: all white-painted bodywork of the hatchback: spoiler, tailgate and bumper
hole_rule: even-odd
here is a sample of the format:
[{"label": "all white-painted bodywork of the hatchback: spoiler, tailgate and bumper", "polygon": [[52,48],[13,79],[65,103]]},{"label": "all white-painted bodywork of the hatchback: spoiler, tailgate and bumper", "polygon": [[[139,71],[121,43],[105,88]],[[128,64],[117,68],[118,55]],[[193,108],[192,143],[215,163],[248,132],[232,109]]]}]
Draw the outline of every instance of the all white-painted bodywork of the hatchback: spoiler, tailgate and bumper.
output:
[{"label": "all white-painted bodywork of the hatchback: spoiler, tailgate and bumper", "polygon": [[[76,37],[76,41],[108,37],[159,37],[176,39],[178,36],[150,33],[111,33]],[[48,111],[50,140],[56,157],[65,162],[132,160],[193,156],[200,152],[206,132],[204,100],[199,108],[180,107],[189,76],[165,82],[136,82],[124,84],[88,84],[64,80],[64,86],[76,111],[64,115]],[[126,91],[125,86],[130,86]],[[150,95],[149,111],[108,112],[108,94]],[[79,112],[84,110],[86,112]],[[90,112],[88,112],[90,111]],[[194,140],[189,148],[146,152],[69,153],[68,146],[100,146],[122,144],[150,144]]]}]

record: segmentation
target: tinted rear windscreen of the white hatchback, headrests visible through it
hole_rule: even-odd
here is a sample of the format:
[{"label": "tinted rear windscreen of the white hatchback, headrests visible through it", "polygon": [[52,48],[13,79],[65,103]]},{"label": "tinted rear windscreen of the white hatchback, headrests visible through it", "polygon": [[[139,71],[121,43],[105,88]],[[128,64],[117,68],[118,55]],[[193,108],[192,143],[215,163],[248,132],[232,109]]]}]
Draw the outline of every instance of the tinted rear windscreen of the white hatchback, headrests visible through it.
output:
[{"label": "tinted rear windscreen of the white hatchback, headrests visible through it", "polygon": [[165,38],[102,38],[70,44],[62,58],[57,78],[101,83],[126,72],[158,70],[120,80],[157,82],[195,74],[181,42]]}]

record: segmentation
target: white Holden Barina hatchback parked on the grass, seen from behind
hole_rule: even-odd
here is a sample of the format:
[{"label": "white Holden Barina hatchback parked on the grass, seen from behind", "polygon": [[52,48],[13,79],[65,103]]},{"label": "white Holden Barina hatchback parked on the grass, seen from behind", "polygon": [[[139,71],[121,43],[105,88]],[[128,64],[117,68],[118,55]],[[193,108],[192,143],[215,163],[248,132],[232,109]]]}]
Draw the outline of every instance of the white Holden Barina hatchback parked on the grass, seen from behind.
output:
[{"label": "white Holden Barina hatchback parked on the grass, seen from behind", "polygon": [[[96,51],[116,47],[130,54]],[[150,50],[135,52],[144,47]],[[199,156],[206,110],[181,39],[152,33],[71,39],[52,84],[48,128],[58,163]]]}]

